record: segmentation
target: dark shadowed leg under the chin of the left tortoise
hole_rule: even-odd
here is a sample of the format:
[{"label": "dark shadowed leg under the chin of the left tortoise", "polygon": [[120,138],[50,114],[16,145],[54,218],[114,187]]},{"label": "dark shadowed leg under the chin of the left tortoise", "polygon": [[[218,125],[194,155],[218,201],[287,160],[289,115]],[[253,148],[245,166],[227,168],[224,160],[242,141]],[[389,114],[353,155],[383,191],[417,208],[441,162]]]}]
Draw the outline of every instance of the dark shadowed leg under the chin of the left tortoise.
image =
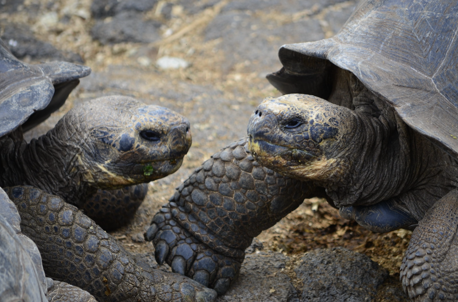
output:
[{"label": "dark shadowed leg under the chin of the left tortoise", "polygon": [[131,185],[119,190],[98,189],[79,208],[102,229],[110,231],[127,224],[148,192],[148,184]]}]

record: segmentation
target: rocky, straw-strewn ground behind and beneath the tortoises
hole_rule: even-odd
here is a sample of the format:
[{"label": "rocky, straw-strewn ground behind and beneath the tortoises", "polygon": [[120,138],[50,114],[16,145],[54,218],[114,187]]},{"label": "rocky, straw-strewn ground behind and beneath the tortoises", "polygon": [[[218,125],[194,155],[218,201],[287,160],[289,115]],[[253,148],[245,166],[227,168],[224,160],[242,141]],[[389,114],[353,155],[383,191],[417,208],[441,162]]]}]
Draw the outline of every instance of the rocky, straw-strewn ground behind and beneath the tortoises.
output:
[{"label": "rocky, straw-strewn ground behind and beneath the tortoises", "polygon": [[[155,265],[143,231],[194,168],[245,136],[255,106],[279,95],[265,79],[281,67],[278,47],[333,36],[356,2],[2,0],[0,36],[23,61],[93,69],[28,138],[102,95],[131,95],[189,118],[193,144],[182,168],[151,183],[132,223],[113,233]],[[306,200],[255,239],[239,280],[218,301],[407,301],[398,273],[409,237],[368,232],[326,203]]]}]

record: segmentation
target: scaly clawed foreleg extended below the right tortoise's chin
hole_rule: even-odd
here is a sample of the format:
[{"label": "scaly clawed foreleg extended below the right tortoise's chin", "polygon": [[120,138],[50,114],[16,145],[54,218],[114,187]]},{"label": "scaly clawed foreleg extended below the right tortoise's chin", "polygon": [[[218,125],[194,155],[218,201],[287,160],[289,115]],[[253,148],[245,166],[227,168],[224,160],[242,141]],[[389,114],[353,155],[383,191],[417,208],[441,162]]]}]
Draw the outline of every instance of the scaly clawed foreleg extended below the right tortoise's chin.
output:
[{"label": "scaly clawed foreleg extended below the right tortoise's chin", "polygon": [[311,182],[261,167],[234,142],[197,168],[158,212],[145,234],[167,262],[218,294],[240,270],[245,249],[262,230],[277,223],[307,197],[323,196]]}]

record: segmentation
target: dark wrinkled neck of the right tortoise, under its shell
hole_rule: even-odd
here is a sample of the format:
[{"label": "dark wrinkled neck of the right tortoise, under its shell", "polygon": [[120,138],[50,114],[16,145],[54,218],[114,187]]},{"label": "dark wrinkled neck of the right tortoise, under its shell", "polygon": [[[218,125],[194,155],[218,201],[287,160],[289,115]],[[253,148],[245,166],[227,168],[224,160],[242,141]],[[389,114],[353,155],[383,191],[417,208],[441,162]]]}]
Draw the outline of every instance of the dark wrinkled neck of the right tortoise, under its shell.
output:
[{"label": "dark wrinkled neck of the right tortoise, under its shell", "polygon": [[[361,110],[362,109],[362,110]],[[431,144],[415,135],[393,111],[378,116],[366,108],[350,110],[351,123],[342,126],[339,161],[345,166],[337,182],[322,183],[337,207],[369,205],[398,196],[412,186],[421,174],[417,169],[422,154]],[[421,166],[421,165],[420,165]]]}]

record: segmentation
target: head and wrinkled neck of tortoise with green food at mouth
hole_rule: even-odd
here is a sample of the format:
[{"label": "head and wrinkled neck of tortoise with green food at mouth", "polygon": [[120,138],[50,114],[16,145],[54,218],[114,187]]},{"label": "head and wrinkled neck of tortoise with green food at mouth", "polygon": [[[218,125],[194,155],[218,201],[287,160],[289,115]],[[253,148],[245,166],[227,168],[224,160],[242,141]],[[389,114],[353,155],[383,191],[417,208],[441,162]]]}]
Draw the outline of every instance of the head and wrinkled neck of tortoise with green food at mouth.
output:
[{"label": "head and wrinkled neck of tortoise with green food at mouth", "polygon": [[[72,108],[54,129],[28,144],[2,137],[0,186],[33,185],[82,207],[98,189],[174,173],[190,146],[185,117],[130,97],[98,98]],[[120,206],[113,212],[125,211]]]}]

